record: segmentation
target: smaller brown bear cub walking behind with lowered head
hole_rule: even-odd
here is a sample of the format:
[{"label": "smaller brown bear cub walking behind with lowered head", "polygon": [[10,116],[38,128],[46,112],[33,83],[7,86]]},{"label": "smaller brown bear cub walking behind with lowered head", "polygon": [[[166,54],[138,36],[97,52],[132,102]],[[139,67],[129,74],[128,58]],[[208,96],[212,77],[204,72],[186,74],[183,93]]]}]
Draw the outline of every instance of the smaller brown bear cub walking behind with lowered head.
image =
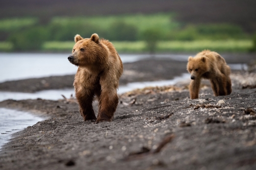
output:
[{"label": "smaller brown bear cub walking behind with lowered head", "polygon": [[189,92],[191,99],[197,99],[201,78],[210,79],[215,96],[225,96],[232,92],[231,69],[217,52],[203,50],[188,59],[187,70],[191,73]]}]

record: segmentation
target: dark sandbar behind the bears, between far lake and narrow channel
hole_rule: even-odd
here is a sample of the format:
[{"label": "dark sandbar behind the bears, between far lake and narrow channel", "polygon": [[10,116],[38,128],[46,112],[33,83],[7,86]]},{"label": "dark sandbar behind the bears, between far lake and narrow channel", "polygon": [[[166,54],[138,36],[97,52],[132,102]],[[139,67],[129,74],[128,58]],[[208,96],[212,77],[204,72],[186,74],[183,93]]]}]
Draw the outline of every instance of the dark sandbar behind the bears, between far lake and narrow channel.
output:
[{"label": "dark sandbar behind the bears, between far lake and narrow channel", "polygon": [[[159,55],[161,56],[161,54]],[[256,54],[243,53],[240,55],[239,53],[227,53],[222,54],[222,56],[227,64],[249,65],[255,62]],[[146,58],[137,62],[124,63],[123,66],[124,72],[119,80],[120,85],[127,84],[128,82],[172,79],[175,76],[182,75],[182,73],[188,73],[186,70],[187,61],[177,61],[172,58],[163,58],[163,56],[162,58]],[[237,70],[233,71],[237,72]],[[0,82],[0,91],[35,93],[42,90],[68,89],[73,88],[73,79],[74,74],[8,80]]]}]

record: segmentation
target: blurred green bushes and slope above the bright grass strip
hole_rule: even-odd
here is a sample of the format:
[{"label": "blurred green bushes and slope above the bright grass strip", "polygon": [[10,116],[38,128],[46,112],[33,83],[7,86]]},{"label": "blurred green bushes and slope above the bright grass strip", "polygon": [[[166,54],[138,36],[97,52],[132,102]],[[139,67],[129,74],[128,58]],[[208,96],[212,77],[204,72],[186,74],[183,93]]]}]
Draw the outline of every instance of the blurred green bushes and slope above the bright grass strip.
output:
[{"label": "blurred green bushes and slope above the bright grass strip", "polygon": [[253,37],[239,25],[184,24],[173,16],[156,13],[53,17],[45,24],[36,17],[7,18],[0,20],[0,41],[11,43],[12,50],[28,51],[40,50],[44,42],[73,41],[76,34],[88,38],[97,33],[110,41],[145,41],[149,49],[156,41],[248,40]]}]

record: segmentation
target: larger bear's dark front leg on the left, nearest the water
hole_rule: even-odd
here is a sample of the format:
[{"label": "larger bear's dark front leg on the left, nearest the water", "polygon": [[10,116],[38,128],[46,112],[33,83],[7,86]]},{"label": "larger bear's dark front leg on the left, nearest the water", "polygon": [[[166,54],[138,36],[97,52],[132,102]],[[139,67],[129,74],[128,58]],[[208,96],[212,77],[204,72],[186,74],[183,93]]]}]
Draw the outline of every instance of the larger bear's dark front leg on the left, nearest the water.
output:
[{"label": "larger bear's dark front leg on the left, nearest the water", "polygon": [[79,103],[79,111],[84,121],[95,121],[96,116],[93,111],[92,101],[94,94],[89,90],[75,92],[75,97]]}]

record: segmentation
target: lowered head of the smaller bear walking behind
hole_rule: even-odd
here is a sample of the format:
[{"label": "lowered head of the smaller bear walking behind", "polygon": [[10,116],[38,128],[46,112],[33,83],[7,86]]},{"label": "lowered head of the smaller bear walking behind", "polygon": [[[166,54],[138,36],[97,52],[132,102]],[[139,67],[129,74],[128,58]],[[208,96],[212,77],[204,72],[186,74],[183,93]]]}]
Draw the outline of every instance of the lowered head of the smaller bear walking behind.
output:
[{"label": "lowered head of the smaller bear walking behind", "polygon": [[191,74],[191,79],[201,78],[202,74],[208,72],[207,58],[205,56],[192,56],[188,59],[187,70]]}]

